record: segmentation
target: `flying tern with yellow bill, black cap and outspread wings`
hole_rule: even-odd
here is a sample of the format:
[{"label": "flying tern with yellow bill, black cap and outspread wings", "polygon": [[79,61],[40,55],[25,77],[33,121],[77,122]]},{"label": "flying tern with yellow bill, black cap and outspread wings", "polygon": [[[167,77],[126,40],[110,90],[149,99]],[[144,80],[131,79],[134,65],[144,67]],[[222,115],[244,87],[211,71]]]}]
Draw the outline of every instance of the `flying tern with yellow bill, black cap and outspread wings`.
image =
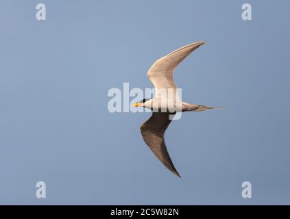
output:
[{"label": "flying tern with yellow bill, black cap and outspread wings", "polygon": [[143,140],[160,162],[178,177],[180,174],[171,161],[164,138],[165,131],[173,116],[177,112],[200,112],[222,108],[182,102],[173,80],[173,72],[178,64],[204,43],[205,41],[187,44],[157,60],[147,73],[156,90],[155,97],[143,99],[132,105],[133,107],[146,107],[153,111],[152,116],[141,125]]}]

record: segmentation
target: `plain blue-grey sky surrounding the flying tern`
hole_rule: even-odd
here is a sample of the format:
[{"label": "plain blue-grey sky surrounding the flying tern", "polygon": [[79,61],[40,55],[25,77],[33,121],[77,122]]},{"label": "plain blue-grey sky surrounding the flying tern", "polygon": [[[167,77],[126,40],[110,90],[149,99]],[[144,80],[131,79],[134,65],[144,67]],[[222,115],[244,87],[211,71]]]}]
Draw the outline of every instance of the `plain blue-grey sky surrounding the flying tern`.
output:
[{"label": "plain blue-grey sky surrounding the flying tern", "polygon": [[[47,21],[37,21],[45,3]],[[252,4],[252,21],[241,5]],[[290,204],[289,1],[0,1],[0,204]],[[149,113],[108,112],[110,88],[206,40],[177,68],[181,179],[147,148]],[[45,181],[47,198],[36,198]],[[242,198],[241,183],[252,183]]]}]

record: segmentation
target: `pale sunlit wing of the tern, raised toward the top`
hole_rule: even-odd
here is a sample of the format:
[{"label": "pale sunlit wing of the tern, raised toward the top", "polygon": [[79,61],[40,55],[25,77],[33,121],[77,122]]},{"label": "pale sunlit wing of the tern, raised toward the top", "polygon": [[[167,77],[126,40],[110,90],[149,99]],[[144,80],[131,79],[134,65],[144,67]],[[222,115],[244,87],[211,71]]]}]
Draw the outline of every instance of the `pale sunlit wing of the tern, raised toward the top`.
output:
[{"label": "pale sunlit wing of the tern, raised toward the top", "polygon": [[204,43],[205,41],[187,44],[186,46],[160,58],[151,66],[151,68],[149,68],[147,76],[154,84],[156,96],[160,95],[158,94],[160,88],[173,88],[174,94],[176,94],[176,83],[173,80],[174,69],[186,58],[187,55]]}]

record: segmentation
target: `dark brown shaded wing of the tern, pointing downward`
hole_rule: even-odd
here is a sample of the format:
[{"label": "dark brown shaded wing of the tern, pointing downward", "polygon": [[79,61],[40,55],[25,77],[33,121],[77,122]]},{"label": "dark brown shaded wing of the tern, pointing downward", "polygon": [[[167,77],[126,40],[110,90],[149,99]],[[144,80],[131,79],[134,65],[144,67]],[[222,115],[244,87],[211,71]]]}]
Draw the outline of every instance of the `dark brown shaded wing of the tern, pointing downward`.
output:
[{"label": "dark brown shaded wing of the tern, pointing downward", "polygon": [[171,120],[169,120],[169,114],[167,112],[153,112],[152,116],[141,125],[141,134],[145,143],[149,146],[154,155],[158,157],[160,162],[162,162],[171,172],[180,177],[167,152],[164,140],[165,130],[170,123]]}]

